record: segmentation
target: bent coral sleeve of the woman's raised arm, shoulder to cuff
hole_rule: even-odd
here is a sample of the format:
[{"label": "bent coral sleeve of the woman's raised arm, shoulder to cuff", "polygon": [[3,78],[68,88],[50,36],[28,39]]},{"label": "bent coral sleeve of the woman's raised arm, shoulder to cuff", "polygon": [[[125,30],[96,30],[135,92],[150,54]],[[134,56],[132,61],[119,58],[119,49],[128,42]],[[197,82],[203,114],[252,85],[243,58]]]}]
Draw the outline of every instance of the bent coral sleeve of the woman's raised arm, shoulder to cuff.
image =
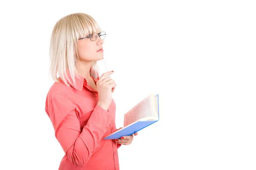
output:
[{"label": "bent coral sleeve of the woman's raised arm, shoulder to cuff", "polygon": [[52,96],[48,115],[67,158],[82,167],[90,159],[113,115],[96,105],[87,125],[81,130],[76,107],[63,95]]}]

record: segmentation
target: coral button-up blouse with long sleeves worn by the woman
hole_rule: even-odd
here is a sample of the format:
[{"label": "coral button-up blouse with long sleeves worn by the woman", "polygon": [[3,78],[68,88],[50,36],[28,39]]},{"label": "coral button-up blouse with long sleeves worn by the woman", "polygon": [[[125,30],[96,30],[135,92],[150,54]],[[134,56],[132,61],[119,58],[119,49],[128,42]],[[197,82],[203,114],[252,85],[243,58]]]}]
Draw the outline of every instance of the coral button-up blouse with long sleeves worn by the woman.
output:
[{"label": "coral button-up blouse with long sleeves worn by the woman", "polygon": [[[97,82],[95,71],[90,75]],[[69,75],[68,75],[69,76]],[[116,105],[112,99],[108,111],[97,105],[98,92],[76,74],[76,87],[55,82],[49,89],[45,111],[52,122],[55,137],[64,150],[59,170],[119,170],[117,144],[105,140],[115,132]]]}]

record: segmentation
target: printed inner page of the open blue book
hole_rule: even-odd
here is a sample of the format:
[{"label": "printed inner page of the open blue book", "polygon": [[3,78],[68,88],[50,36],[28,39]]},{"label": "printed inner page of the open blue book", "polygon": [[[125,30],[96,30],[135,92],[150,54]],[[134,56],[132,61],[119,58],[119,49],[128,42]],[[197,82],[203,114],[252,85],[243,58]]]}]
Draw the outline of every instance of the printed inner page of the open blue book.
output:
[{"label": "printed inner page of the open blue book", "polygon": [[154,116],[154,110],[152,109],[151,95],[143,99],[139,104],[134,106],[130,111],[125,113],[124,127],[145,117]]}]

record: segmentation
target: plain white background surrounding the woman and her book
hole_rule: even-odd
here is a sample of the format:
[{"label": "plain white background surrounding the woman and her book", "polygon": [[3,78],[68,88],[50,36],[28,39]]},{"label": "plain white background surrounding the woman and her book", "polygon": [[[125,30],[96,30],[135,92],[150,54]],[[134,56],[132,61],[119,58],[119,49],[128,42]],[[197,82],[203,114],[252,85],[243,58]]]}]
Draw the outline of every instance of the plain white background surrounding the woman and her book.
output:
[{"label": "plain white background surrounding the woman and her book", "polygon": [[255,8],[248,0],[2,1],[0,169],[58,169],[64,152],[44,111],[49,39],[57,20],[84,12],[107,33],[116,127],[159,94],[160,120],[119,148],[121,170],[255,170]]}]

